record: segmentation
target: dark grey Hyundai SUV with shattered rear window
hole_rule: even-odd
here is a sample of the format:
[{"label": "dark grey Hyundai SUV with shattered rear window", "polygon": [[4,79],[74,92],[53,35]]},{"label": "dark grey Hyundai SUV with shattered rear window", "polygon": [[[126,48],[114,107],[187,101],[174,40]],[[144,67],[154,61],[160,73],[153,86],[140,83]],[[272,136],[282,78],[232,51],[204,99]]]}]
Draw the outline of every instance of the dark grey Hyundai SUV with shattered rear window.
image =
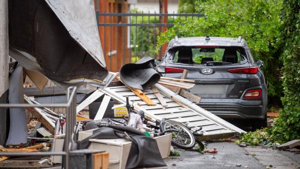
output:
[{"label": "dark grey Hyundai SUV with shattered rear window", "polygon": [[[263,62],[254,61],[244,38],[173,38],[156,70],[164,77],[195,80],[199,106],[229,121],[266,127],[267,87]],[[249,122],[249,123],[245,123]]]}]

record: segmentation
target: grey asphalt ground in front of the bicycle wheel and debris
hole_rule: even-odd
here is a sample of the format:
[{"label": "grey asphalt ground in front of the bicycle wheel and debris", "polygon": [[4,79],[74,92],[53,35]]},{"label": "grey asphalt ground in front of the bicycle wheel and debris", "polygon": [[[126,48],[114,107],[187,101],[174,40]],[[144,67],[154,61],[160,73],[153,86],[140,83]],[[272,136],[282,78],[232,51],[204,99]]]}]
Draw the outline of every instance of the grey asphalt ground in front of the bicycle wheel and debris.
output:
[{"label": "grey asphalt ground in front of the bicycle wheel and debris", "polygon": [[246,155],[243,148],[232,142],[214,142],[207,145],[207,149],[213,148],[216,148],[218,153],[200,154],[196,151],[175,149],[181,156],[172,156],[165,162],[169,169],[265,169],[251,154]]}]

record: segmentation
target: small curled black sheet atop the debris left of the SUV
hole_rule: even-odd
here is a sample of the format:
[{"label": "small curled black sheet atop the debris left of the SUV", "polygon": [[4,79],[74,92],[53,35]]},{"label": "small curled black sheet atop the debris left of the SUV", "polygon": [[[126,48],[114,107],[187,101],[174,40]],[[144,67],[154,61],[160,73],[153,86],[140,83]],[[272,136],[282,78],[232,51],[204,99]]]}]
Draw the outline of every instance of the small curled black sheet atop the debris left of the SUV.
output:
[{"label": "small curled black sheet atop the debris left of the SUV", "polygon": [[123,65],[120,78],[132,88],[146,90],[159,81],[160,75],[154,70],[154,59],[145,56],[136,63]]}]

